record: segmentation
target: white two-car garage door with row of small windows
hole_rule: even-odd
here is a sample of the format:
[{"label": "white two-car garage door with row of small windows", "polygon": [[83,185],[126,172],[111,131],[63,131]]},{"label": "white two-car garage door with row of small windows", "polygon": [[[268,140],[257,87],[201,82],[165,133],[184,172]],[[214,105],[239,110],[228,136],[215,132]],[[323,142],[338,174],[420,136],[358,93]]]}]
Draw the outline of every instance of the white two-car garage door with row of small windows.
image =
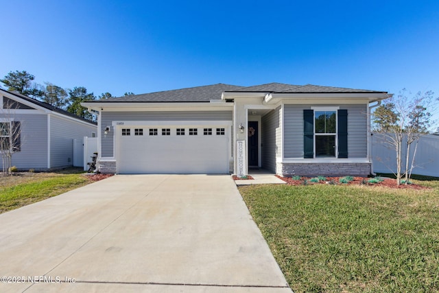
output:
[{"label": "white two-car garage door with row of small windows", "polygon": [[119,174],[228,173],[228,126],[119,126]]}]

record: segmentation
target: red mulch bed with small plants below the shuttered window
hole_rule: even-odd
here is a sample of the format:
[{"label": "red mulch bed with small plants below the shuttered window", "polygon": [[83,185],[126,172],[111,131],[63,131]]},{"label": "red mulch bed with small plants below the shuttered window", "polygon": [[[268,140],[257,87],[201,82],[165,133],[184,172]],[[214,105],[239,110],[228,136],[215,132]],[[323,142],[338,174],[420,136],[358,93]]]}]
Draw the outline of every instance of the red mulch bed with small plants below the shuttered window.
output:
[{"label": "red mulch bed with small plants below the shuttered window", "polygon": [[[284,180],[289,185],[314,185],[314,184],[330,184],[330,185],[364,185],[364,186],[381,186],[390,188],[408,188],[408,189],[428,189],[429,187],[417,185],[417,184],[401,184],[396,185],[396,180],[391,178],[379,178],[376,180],[371,180],[375,178],[364,178],[364,177],[327,177],[326,180],[316,180],[315,178],[309,177],[281,177],[277,176],[281,180]],[[351,180],[352,179],[352,180]]]}]

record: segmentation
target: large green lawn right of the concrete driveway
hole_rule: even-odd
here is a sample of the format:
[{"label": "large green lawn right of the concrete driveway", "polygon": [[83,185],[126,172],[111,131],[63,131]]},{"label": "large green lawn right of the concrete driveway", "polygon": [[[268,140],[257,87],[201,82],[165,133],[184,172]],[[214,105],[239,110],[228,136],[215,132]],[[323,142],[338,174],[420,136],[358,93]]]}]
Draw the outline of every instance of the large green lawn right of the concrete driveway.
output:
[{"label": "large green lawn right of the concrete driveway", "polygon": [[239,187],[294,292],[439,292],[439,181]]}]

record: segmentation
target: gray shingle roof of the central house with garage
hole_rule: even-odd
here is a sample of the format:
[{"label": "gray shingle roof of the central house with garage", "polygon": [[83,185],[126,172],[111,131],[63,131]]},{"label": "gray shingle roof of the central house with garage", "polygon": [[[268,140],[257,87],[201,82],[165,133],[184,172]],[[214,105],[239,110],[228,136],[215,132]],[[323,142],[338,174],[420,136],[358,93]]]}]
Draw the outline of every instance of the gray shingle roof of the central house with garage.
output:
[{"label": "gray shingle roof of the central house with garage", "polygon": [[[144,93],[141,95],[128,95],[124,97],[111,97],[99,99],[98,102],[209,102],[212,99],[221,99],[221,94],[258,92],[258,93],[385,93],[383,91],[369,91],[362,89],[345,89],[333,86],[316,86],[306,84],[304,86],[294,84],[281,84],[272,82],[256,86],[234,86],[230,84],[213,84],[209,86],[195,86],[187,89],[171,91],[159,91],[156,93]],[[96,101],[90,101],[96,102]],[[87,102],[85,102],[87,103]]]}]

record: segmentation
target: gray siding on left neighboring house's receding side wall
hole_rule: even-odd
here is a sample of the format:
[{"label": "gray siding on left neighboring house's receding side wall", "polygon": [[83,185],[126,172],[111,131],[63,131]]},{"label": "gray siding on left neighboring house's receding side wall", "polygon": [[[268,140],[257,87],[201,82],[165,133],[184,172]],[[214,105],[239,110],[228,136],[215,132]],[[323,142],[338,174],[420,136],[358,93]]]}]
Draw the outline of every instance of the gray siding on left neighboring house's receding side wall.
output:
[{"label": "gray siding on left neighboring house's receding side wall", "polygon": [[73,139],[91,137],[97,126],[51,115],[50,118],[51,168],[73,165]]}]

